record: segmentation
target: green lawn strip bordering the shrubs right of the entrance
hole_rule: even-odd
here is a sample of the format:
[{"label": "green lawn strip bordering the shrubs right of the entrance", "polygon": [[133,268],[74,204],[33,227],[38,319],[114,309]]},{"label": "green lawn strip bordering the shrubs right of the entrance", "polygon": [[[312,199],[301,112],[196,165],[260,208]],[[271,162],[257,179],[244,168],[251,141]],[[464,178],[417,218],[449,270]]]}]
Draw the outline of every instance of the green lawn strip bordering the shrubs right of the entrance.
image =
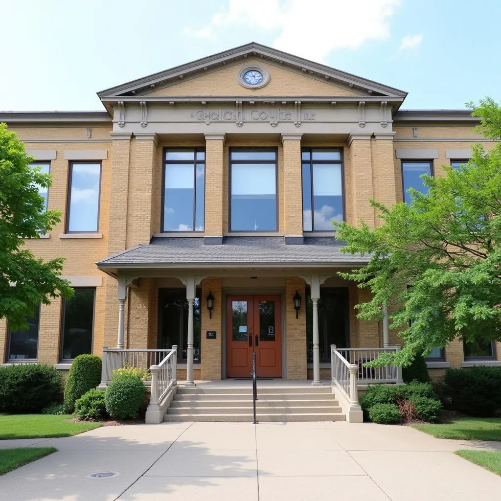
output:
[{"label": "green lawn strip bordering the shrubs right of the entrance", "polygon": [[413,424],[412,427],[436,438],[501,440],[501,419],[495,417],[464,417],[448,423]]}]

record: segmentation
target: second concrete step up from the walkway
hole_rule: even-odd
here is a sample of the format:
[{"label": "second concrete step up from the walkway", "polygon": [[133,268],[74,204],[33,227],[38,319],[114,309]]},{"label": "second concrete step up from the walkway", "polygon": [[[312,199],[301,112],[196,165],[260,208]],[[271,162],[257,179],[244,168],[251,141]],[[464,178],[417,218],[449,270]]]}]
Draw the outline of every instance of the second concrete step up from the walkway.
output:
[{"label": "second concrete step up from the walkway", "polygon": [[[262,399],[260,398],[256,402],[256,406],[261,407],[275,407],[275,406],[285,406],[285,407],[337,407],[338,401],[334,398],[332,399],[315,399],[315,400],[307,400],[307,399]],[[252,408],[252,398],[247,400],[234,399],[229,397],[225,400],[212,400],[212,399],[203,399],[199,400],[195,399],[177,399],[171,403],[172,407],[251,407]]]}]

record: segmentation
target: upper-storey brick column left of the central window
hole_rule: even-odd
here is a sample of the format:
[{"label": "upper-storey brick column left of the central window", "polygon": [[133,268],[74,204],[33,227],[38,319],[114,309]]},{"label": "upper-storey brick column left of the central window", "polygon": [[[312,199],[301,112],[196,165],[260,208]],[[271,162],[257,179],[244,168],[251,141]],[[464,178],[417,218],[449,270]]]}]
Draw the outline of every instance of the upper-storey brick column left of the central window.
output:
[{"label": "upper-storey brick column left of the central window", "polygon": [[223,233],[224,133],[205,134],[204,243],[221,244]]}]

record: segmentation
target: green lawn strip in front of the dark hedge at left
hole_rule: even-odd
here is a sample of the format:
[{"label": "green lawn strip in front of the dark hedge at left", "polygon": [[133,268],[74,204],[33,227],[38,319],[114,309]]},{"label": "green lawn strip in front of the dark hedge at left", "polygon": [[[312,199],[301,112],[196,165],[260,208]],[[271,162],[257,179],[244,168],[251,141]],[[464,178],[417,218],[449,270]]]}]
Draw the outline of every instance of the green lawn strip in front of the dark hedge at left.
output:
[{"label": "green lawn strip in front of the dark hedge at left", "polygon": [[69,437],[93,430],[101,423],[79,421],[69,422],[71,415],[50,414],[8,414],[0,416],[0,440],[8,438]]}]

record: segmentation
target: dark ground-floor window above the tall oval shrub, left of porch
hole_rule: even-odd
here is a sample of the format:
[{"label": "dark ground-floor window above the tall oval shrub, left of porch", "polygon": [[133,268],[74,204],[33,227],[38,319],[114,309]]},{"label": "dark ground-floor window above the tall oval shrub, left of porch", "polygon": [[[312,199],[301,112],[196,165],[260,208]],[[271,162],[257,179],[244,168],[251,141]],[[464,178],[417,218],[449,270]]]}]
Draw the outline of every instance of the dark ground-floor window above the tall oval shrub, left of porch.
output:
[{"label": "dark ground-floor window above the tall oval shrub, left of porch", "polygon": [[69,300],[63,300],[61,359],[92,353],[94,298],[96,289],[75,288]]}]

